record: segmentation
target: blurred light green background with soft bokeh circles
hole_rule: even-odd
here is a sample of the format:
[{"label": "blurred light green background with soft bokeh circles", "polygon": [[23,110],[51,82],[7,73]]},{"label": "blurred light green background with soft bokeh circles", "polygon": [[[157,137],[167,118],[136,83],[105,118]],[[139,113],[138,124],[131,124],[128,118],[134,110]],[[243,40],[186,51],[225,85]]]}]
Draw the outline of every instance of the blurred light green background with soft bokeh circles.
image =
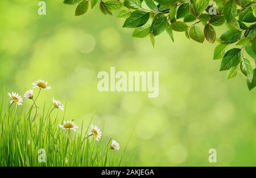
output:
[{"label": "blurred light green background with soft bokeh circles", "polygon": [[[96,110],[93,123],[101,127],[105,120],[105,137],[117,140],[121,151],[135,128],[126,157],[135,154],[141,166],[256,165],[256,90],[247,89],[245,78],[227,80],[218,71],[216,44],[178,32],[172,43],[165,32],[153,49],[149,38],[131,37],[123,19],[103,15],[98,5],[77,17],[75,6],[48,0],[40,16],[38,2],[0,2],[1,90],[23,95],[34,80],[48,81],[52,90],[42,92],[39,105],[49,106],[52,96],[67,102],[66,118],[78,125]],[[97,73],[110,66],[159,71],[158,98],[99,92]],[[24,99],[25,108],[30,104]],[[208,162],[211,148],[217,163]]]}]

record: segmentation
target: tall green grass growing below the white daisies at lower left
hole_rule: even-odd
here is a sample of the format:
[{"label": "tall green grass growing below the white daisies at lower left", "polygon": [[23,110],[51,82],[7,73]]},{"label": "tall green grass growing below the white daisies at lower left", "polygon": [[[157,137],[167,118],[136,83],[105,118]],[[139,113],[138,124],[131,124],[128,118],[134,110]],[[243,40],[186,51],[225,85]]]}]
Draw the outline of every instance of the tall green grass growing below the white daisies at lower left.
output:
[{"label": "tall green grass growing below the white daisies at lower left", "polygon": [[[0,104],[0,166],[133,165],[133,158],[123,162],[127,145],[123,146],[123,150],[110,150],[112,138],[103,137],[96,141],[93,135],[89,135],[93,117],[87,118],[89,125],[84,126],[83,121],[77,132],[63,130],[58,125],[63,124],[65,113],[61,118],[53,117],[51,108],[46,109],[46,104],[40,109],[33,105],[27,112],[23,105],[15,103],[5,107],[7,101],[4,98],[7,98],[5,91]],[[36,109],[42,113],[36,114]],[[35,115],[35,121],[32,121]],[[104,123],[102,136],[103,130]],[[38,157],[42,156],[39,149],[46,151],[46,162],[38,161]]]}]

